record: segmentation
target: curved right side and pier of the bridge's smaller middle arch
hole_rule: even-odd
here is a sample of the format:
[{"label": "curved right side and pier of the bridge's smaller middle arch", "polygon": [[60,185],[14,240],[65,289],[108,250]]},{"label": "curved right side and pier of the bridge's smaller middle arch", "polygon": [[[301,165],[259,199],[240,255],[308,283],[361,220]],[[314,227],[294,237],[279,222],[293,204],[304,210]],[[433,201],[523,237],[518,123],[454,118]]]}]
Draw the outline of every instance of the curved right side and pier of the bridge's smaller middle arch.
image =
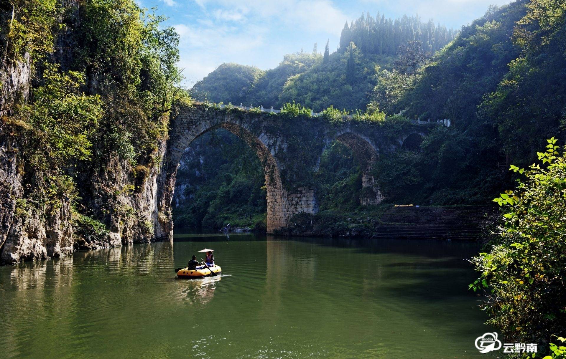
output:
[{"label": "curved right side and pier of the bridge's smaller middle arch", "polygon": [[359,198],[360,204],[364,206],[379,204],[384,197],[379,190],[378,183],[371,174],[379,158],[378,146],[367,136],[349,128],[338,131],[335,140],[348,146],[361,166],[362,193]]}]

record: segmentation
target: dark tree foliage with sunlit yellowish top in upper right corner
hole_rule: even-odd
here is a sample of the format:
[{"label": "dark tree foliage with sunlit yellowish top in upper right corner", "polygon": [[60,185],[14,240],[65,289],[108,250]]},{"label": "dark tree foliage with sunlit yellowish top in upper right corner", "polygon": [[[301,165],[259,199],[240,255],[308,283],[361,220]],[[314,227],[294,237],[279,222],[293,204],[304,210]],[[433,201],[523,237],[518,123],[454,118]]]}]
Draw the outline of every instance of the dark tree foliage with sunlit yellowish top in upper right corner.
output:
[{"label": "dark tree foliage with sunlit yellowish top in upper right corner", "polygon": [[530,163],[540,139],[566,128],[566,3],[531,0],[513,31],[521,55],[481,104],[479,118],[498,129],[502,150]]}]

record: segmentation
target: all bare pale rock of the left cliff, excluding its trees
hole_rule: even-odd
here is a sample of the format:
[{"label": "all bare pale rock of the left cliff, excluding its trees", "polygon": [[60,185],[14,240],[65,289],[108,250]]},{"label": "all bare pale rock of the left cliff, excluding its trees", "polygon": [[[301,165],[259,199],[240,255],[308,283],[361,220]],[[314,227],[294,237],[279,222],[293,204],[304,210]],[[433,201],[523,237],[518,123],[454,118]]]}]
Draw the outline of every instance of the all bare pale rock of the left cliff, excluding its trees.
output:
[{"label": "all bare pale rock of the left cliff, excluding its trees", "polygon": [[[76,6],[76,2],[64,5]],[[11,11],[0,11],[2,22],[11,16]],[[64,36],[57,41],[65,42]],[[67,53],[53,57],[59,58],[63,68],[70,61]],[[26,205],[24,198],[41,183],[42,174],[26,171],[22,156],[25,139],[18,131],[21,124],[14,122],[11,114],[16,103],[28,101],[31,79],[29,55],[20,61],[4,58],[0,63],[0,264],[65,256],[79,249],[170,240],[172,192],[166,187],[166,168],[161,161],[166,156],[165,140],[158,142],[152,154],[154,164],[140,171],[132,171],[118,155],[111,155],[105,163],[85,165],[89,170],[78,176],[82,197],[78,206],[104,224],[103,235],[85,236],[77,231],[77,214],[70,198],[59,198],[57,206],[48,203],[41,209]],[[64,170],[72,174],[72,170]]]}]

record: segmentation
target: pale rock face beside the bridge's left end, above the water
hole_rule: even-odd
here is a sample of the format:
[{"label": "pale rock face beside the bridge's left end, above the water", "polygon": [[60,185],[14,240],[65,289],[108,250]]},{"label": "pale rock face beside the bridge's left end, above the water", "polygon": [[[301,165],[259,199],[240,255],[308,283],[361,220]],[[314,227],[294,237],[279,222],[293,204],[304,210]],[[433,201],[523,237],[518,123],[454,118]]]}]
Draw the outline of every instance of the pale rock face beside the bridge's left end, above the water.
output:
[{"label": "pale rock face beside the bridge's left end, above the water", "polygon": [[[165,155],[162,141],[157,158]],[[172,224],[169,204],[160,206],[159,188],[163,186],[161,163],[133,171],[117,155],[92,169],[91,176],[81,182],[82,200],[93,217],[108,229],[103,237],[75,236],[75,249],[96,249],[108,246],[170,240]]]}]

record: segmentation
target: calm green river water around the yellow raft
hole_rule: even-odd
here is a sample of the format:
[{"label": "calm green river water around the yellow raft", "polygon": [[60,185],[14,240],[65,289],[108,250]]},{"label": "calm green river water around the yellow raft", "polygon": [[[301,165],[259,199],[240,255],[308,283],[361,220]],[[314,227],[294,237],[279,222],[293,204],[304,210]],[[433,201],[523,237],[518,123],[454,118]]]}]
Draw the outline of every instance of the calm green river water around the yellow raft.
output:
[{"label": "calm green river water around the yellow raft", "polygon": [[[175,279],[202,248],[222,275]],[[477,358],[477,243],[176,234],[0,267],[0,357]]]}]

